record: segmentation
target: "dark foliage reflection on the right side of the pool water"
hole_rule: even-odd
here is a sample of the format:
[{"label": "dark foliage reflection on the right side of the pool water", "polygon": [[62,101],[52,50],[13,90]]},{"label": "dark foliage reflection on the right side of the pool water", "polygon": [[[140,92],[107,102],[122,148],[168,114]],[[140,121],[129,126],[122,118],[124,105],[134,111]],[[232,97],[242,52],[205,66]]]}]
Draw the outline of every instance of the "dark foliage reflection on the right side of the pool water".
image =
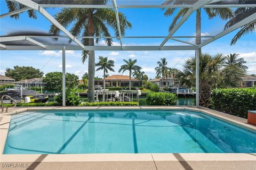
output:
[{"label": "dark foliage reflection on the right side of the pool water", "polygon": [[[223,152],[256,152],[255,139],[253,141],[250,135],[246,135],[236,127],[230,127],[227,130],[226,126],[221,126],[222,124],[220,125],[216,121],[198,119],[189,115],[179,116],[179,124],[182,127],[201,132]],[[189,135],[193,135],[193,133],[189,133]]]}]

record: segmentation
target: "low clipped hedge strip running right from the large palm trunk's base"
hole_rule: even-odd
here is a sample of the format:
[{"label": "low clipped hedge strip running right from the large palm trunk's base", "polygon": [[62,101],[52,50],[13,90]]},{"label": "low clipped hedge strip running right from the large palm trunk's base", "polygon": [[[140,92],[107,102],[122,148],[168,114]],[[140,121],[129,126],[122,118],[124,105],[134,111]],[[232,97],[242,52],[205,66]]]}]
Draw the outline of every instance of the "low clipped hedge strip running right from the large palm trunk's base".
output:
[{"label": "low clipped hedge strip running right from the large palm trunk's base", "polygon": [[98,102],[98,103],[89,103],[84,102],[79,104],[79,106],[138,106],[138,102],[121,102],[121,101],[109,101],[109,102]]}]

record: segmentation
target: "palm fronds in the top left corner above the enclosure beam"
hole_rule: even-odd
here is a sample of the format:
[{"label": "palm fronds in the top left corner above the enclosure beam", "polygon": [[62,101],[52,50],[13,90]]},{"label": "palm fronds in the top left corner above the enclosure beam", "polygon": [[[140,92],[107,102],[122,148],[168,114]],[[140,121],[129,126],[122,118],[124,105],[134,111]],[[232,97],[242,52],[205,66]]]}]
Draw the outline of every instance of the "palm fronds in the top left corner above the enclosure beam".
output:
[{"label": "palm fronds in the top left corner above the enclosure beam", "polygon": [[[14,2],[14,1],[5,0],[5,3],[7,5],[7,8],[9,9],[9,12],[16,11],[16,10],[26,7],[25,5],[22,5],[18,2]],[[28,13],[29,18],[34,18],[34,19],[37,18],[34,10],[28,10],[27,13]],[[20,13],[11,15],[11,18],[19,19],[19,16],[20,16],[19,14]]]}]

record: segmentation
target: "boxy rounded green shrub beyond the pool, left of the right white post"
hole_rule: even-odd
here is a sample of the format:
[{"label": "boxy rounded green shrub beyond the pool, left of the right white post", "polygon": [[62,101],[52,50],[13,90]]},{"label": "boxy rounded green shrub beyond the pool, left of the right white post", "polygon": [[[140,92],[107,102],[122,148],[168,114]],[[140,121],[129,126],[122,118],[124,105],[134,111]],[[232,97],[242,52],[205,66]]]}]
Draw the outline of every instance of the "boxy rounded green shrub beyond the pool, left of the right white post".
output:
[{"label": "boxy rounded green shrub beyond the pool, left of the right white post", "polygon": [[150,92],[146,96],[146,103],[149,106],[176,105],[177,96],[166,92]]}]

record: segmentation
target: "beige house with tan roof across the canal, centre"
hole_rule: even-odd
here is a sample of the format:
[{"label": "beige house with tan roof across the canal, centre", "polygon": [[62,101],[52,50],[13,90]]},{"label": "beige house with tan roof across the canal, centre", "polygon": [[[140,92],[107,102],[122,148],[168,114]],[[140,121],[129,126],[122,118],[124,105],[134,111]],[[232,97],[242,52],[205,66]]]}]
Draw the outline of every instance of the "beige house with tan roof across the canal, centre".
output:
[{"label": "beige house with tan roof across the canal, centre", "polygon": [[[105,79],[106,87],[128,87],[129,86],[129,76],[128,75],[111,75]],[[103,86],[102,80],[95,80],[95,86]],[[141,81],[135,78],[131,78],[131,86],[140,87]]]}]

